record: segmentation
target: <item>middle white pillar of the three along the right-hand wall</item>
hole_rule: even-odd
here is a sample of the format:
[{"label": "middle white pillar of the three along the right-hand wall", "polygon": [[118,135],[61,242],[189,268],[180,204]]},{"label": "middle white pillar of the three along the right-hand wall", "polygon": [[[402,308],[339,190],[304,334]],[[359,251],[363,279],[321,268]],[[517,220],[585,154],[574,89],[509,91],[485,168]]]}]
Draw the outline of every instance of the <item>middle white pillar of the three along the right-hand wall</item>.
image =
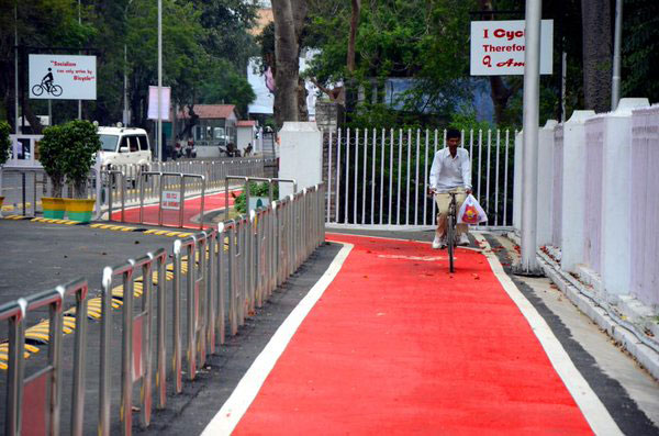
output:
[{"label": "middle white pillar of the three along the right-hand wall", "polygon": [[583,261],[583,200],[585,194],[585,126],[594,111],[574,111],[563,126],[563,192],[561,268],[573,271]]}]

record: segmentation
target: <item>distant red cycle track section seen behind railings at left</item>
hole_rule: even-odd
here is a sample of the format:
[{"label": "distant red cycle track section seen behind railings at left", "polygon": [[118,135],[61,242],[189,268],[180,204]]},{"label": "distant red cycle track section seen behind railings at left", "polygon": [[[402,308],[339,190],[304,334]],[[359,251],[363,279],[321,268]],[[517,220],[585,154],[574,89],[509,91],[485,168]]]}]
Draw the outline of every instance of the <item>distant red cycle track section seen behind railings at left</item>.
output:
[{"label": "distant red cycle track section seen behind railings at left", "polygon": [[[233,205],[234,199],[231,193],[239,195],[242,191],[231,191],[228,195],[228,205]],[[204,201],[204,213],[214,211],[217,209],[224,209],[226,203],[225,193],[215,193],[205,195]],[[144,224],[158,225],[158,204],[150,204],[144,206]],[[186,200],[186,208],[183,210],[183,227],[186,228],[199,228],[199,222],[194,222],[192,219],[197,217],[201,212],[201,197]],[[122,221],[121,212],[112,213],[113,221]],[[139,223],[139,208],[126,209],[125,220],[126,223]],[[167,226],[177,226],[179,222],[178,210],[163,210],[163,224]]]}]

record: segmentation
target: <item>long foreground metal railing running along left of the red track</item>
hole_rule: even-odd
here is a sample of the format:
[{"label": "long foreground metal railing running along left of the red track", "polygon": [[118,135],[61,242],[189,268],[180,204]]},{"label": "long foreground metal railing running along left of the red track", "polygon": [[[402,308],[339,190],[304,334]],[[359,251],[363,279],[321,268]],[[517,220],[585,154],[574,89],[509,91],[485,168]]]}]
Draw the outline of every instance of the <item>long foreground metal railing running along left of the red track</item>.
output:
[{"label": "long foreground metal railing running along left of the red track", "polygon": [[[165,409],[168,384],[174,394],[182,392],[183,364],[186,379],[194,380],[198,368],[205,365],[210,355],[219,353],[225,335],[237,334],[246,317],[255,316],[275,289],[322,244],[325,194],[323,185],[314,186],[253,210],[249,215],[220,223],[217,228],[177,239],[169,265],[167,253],[160,248],[114,268],[105,267],[98,297],[88,299],[87,281],[80,279],[0,306],[0,322],[8,322],[10,327],[8,401],[1,412],[5,416],[5,434],[21,434],[21,425],[23,429],[30,425],[31,433],[44,434],[49,428],[51,434],[57,434],[64,401],[62,380],[69,377],[74,379],[70,396],[72,434],[90,433],[90,426],[96,425],[99,435],[109,435],[111,427],[116,425],[115,416],[121,433],[130,435],[132,414],[136,412],[133,410],[135,383],[139,383],[141,392],[139,425],[148,427],[154,409],[154,376],[155,407]],[[76,306],[63,312],[67,295],[76,295]],[[48,346],[48,365],[24,379],[23,368],[29,358],[23,353],[25,317],[44,306],[49,308],[51,314],[48,340],[44,345]],[[100,399],[98,414],[85,414],[86,373],[91,373],[86,371],[87,321],[98,318],[91,315],[92,310],[100,311]],[[119,310],[121,317],[114,313]],[[63,316],[75,316],[76,320],[70,373],[63,373]],[[113,320],[120,321],[121,329],[119,367],[113,366],[111,359],[111,340],[116,337]],[[167,340],[168,335],[171,340]],[[120,374],[113,376],[112,368]],[[114,380],[114,377],[119,378]],[[119,382],[121,389],[113,398],[112,387]],[[41,401],[45,407],[43,416],[47,416],[48,423],[34,418],[40,409],[31,409],[31,418],[26,421],[23,406],[32,403],[27,403],[25,396]],[[119,405],[118,414],[112,413],[113,404],[114,407]],[[92,416],[98,416],[98,422],[91,422]]]}]

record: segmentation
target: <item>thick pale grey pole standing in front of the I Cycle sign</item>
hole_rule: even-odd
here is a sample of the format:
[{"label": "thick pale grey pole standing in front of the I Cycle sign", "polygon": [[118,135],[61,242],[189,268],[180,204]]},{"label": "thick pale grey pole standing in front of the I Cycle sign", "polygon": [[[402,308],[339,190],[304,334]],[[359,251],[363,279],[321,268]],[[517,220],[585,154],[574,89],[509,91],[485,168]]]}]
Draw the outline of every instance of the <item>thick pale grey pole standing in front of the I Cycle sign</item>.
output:
[{"label": "thick pale grey pole standing in front of the I Cycle sign", "polygon": [[521,276],[540,276],[537,250],[538,122],[540,102],[541,0],[526,0],[526,54],[524,57],[524,168],[522,172]]}]

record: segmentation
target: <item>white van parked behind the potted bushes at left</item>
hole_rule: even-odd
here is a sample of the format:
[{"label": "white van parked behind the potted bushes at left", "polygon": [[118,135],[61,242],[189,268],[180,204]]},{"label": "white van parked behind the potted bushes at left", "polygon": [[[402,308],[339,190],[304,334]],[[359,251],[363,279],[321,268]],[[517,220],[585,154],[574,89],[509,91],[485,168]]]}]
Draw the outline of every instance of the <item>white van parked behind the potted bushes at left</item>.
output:
[{"label": "white van parked behind the potted bushes at left", "polygon": [[101,167],[109,168],[121,165],[139,165],[148,169],[152,153],[148,136],[144,128],[136,127],[99,127]]}]

